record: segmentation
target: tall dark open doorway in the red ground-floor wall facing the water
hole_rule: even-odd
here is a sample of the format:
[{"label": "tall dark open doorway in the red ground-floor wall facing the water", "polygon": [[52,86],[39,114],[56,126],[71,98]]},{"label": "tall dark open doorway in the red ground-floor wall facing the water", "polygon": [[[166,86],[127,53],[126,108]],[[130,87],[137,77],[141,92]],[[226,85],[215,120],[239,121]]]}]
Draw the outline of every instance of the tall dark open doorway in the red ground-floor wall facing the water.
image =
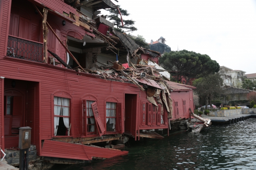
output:
[{"label": "tall dark open doorway in the red ground-floor wall facing the water", "polygon": [[125,94],[124,132],[134,134],[136,130],[137,95]]}]

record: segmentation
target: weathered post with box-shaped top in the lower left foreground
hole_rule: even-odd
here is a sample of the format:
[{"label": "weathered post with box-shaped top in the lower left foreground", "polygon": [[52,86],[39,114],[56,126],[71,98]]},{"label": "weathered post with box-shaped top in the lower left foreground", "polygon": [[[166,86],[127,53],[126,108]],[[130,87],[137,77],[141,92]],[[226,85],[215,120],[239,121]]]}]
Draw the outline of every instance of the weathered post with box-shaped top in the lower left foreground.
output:
[{"label": "weathered post with box-shaped top in the lower left foreground", "polygon": [[19,148],[20,148],[20,170],[28,170],[28,149],[30,148],[31,129],[30,127],[19,128]]}]

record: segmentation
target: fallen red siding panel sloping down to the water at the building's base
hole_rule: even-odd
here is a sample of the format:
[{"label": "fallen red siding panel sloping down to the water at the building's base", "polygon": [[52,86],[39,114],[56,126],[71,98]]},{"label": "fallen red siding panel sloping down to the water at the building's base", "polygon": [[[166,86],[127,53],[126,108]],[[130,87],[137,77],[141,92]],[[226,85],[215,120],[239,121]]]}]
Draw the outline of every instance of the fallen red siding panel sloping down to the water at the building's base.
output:
[{"label": "fallen red siding panel sloping down to the water at the building's base", "polygon": [[127,151],[45,140],[41,156],[92,160],[92,157],[111,158],[126,154],[128,154]]}]

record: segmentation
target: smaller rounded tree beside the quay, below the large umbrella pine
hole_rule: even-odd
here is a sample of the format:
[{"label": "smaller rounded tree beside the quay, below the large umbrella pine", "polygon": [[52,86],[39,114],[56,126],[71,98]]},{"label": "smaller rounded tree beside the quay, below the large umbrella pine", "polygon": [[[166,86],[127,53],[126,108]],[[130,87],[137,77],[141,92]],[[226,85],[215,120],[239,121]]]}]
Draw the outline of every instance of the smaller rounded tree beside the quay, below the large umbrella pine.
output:
[{"label": "smaller rounded tree beside the quay, below the large umbrella pine", "polygon": [[208,103],[211,105],[213,97],[219,97],[222,94],[223,79],[219,73],[209,74],[193,81],[193,86],[198,95],[205,99],[205,109]]}]

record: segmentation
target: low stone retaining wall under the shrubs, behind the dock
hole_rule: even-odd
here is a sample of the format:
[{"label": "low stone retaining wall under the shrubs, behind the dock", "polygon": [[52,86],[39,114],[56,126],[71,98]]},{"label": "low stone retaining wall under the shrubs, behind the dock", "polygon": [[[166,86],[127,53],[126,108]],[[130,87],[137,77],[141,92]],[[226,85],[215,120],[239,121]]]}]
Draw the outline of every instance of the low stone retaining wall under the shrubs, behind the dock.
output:
[{"label": "low stone retaining wall under the shrubs, behind the dock", "polygon": [[254,114],[254,113],[256,113],[256,108],[217,110],[215,112],[210,112],[209,115],[215,116],[215,117],[227,117],[227,116],[233,116],[233,115]]}]

